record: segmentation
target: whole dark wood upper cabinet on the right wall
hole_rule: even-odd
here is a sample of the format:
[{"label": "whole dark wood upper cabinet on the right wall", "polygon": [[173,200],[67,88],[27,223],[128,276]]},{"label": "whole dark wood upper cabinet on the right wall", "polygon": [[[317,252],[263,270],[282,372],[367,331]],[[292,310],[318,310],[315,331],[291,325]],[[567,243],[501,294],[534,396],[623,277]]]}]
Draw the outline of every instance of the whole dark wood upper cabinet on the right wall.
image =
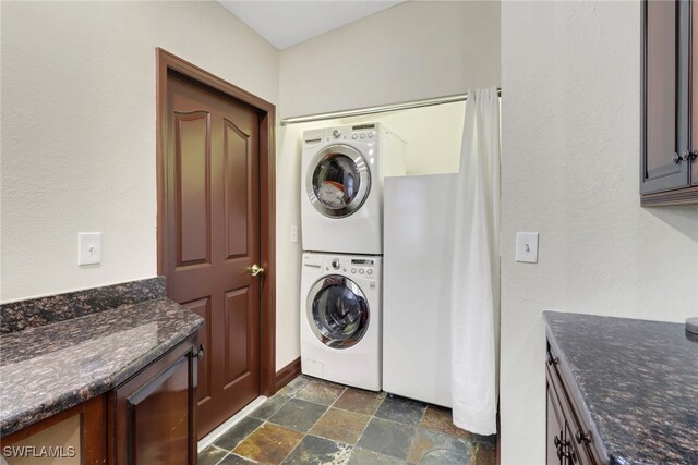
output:
[{"label": "whole dark wood upper cabinet on the right wall", "polygon": [[640,194],[698,201],[698,0],[643,1]]}]

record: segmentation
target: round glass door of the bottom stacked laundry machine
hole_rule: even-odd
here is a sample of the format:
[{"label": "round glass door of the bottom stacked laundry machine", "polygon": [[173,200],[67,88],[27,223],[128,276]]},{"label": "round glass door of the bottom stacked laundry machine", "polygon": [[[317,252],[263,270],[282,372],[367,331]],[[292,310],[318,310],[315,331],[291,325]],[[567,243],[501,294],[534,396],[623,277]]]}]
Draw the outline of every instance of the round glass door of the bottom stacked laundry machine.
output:
[{"label": "round glass door of the bottom stacked laundry machine", "polygon": [[369,329],[369,303],[349,278],[329,274],[308,295],[308,322],[320,342],[333,348],[356,345]]}]

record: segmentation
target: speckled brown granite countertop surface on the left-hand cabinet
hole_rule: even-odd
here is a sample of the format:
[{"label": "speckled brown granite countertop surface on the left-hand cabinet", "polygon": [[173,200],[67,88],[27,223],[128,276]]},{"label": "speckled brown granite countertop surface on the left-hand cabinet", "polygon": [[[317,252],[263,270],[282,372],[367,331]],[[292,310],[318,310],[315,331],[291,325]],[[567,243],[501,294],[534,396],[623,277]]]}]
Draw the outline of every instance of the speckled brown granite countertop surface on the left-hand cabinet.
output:
[{"label": "speckled brown granite countertop surface on the left-hand cabinet", "polygon": [[103,394],[203,325],[156,298],[0,336],[0,435]]}]

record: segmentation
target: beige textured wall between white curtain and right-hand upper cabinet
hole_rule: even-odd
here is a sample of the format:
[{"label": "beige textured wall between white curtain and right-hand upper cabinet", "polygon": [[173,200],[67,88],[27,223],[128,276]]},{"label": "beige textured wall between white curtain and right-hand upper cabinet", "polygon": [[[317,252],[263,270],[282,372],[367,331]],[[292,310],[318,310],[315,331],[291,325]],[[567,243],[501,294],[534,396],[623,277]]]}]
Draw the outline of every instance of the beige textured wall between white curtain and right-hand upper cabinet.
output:
[{"label": "beige textured wall between white curtain and right-hand upper cabinet", "polygon": [[640,207],[639,2],[503,2],[502,87],[502,463],[542,464],[541,311],[698,315],[698,206]]}]

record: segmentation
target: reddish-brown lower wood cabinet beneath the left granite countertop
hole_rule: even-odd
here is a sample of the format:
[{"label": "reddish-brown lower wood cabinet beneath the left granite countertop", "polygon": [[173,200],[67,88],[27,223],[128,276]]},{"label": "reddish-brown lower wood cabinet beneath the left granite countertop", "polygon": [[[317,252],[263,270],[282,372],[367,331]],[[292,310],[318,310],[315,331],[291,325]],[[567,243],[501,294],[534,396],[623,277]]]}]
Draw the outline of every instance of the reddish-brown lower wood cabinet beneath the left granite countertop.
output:
[{"label": "reddish-brown lower wood cabinet beneath the left granite countertop", "polygon": [[4,458],[32,464],[19,455],[53,448],[61,464],[195,465],[201,356],[194,333],[113,390],[2,438],[17,451]]}]

